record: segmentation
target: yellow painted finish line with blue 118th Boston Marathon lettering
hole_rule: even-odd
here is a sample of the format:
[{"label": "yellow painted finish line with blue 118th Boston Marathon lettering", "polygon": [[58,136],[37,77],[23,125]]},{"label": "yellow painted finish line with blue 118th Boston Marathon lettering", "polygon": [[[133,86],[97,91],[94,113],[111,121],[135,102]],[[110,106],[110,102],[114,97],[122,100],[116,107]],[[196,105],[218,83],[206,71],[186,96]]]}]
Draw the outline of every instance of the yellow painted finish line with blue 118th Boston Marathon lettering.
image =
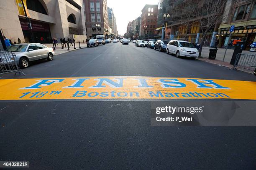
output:
[{"label": "yellow painted finish line with blue 118th Boston Marathon lettering", "polygon": [[256,82],[174,77],[0,80],[0,100],[216,98],[256,100]]}]

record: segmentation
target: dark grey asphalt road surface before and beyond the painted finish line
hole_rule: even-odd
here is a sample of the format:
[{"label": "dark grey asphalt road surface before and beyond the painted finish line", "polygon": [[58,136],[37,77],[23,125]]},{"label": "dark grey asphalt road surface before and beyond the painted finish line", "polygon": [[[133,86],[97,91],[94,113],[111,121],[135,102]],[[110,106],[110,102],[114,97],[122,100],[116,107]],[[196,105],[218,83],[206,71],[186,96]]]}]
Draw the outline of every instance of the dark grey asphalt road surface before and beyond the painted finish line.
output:
[{"label": "dark grey asphalt road surface before and beyond the painted finish line", "polygon": [[[23,70],[34,77],[151,76],[255,81],[255,76],[164,52],[107,44],[56,55]],[[0,161],[30,169],[256,168],[255,127],[151,126],[153,101],[0,102]],[[214,108],[213,108],[214,109]]]}]

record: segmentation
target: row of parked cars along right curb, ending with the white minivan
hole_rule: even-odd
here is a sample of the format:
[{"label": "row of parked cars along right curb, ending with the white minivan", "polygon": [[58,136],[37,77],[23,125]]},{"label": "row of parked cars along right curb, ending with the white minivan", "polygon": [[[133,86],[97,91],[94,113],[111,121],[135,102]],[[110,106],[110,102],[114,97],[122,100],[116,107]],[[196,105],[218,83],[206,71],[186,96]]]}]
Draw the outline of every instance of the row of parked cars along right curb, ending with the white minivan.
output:
[{"label": "row of parked cars along right curb, ending with the white minivan", "polygon": [[164,51],[167,54],[175,54],[176,57],[192,57],[197,58],[199,51],[191,42],[182,40],[157,40],[155,41],[145,41],[145,40],[133,40],[136,47],[148,47],[154,48],[154,50]]}]

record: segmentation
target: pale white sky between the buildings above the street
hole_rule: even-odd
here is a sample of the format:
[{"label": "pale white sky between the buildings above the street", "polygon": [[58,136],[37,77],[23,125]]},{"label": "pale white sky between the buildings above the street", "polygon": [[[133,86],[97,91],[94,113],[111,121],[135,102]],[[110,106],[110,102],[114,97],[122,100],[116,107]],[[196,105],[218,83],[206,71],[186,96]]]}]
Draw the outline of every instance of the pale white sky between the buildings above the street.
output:
[{"label": "pale white sky between the buildings above the street", "polygon": [[141,15],[141,10],[146,4],[158,4],[159,0],[107,0],[108,7],[113,9],[116,19],[118,34],[126,32],[130,21]]}]

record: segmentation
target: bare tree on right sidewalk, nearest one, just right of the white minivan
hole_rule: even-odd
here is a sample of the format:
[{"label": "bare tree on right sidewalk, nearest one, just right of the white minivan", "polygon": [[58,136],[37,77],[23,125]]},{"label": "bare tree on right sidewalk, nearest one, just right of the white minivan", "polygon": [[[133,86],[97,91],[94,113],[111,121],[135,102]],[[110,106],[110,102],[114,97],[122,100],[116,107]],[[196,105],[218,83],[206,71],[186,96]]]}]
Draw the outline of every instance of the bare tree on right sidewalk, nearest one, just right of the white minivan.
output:
[{"label": "bare tree on right sidewalk, nearest one, just right of the white minivan", "polygon": [[199,57],[202,53],[203,40],[207,32],[220,24],[227,0],[197,0],[197,18],[200,22],[202,40]]}]

